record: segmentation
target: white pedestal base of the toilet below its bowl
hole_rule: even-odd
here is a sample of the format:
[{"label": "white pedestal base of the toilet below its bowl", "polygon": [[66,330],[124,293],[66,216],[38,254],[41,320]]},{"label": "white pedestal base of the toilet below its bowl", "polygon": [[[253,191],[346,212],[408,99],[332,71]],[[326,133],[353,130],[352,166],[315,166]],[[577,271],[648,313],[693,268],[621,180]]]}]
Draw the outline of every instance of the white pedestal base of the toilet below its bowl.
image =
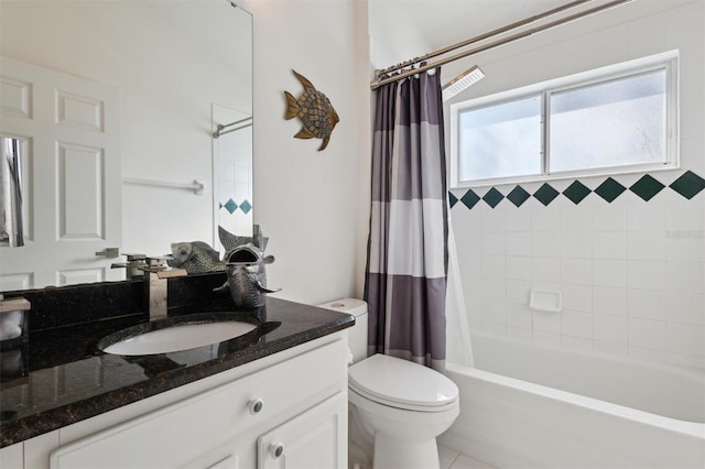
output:
[{"label": "white pedestal base of the toilet below its bowl", "polygon": [[400,440],[375,435],[375,469],[440,469],[435,438]]}]

